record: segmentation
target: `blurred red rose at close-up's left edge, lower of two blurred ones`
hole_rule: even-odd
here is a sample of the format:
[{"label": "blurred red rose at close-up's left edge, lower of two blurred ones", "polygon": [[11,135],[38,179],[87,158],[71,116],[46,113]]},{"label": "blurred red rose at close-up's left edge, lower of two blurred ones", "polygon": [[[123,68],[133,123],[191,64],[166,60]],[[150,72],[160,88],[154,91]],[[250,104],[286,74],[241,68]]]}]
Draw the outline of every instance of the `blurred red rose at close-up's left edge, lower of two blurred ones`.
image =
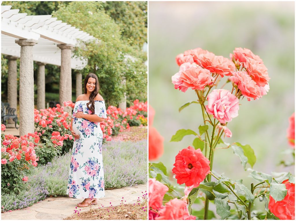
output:
[{"label": "blurred red rose at close-up's left edge, lower of two blurred ones", "polygon": [[149,126],[149,160],[156,160],[163,154],[163,137]]}]

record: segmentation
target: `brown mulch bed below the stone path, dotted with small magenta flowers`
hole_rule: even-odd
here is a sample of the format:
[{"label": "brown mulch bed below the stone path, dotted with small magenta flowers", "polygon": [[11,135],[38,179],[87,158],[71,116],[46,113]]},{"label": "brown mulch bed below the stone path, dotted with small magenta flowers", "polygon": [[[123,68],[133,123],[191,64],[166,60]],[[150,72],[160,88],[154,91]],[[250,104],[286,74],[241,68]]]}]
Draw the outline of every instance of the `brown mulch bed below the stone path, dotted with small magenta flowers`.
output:
[{"label": "brown mulch bed below the stone path, dotted with small magenta flowers", "polygon": [[89,211],[78,213],[63,220],[147,220],[147,200],[144,203],[123,204],[116,207],[91,207]]}]

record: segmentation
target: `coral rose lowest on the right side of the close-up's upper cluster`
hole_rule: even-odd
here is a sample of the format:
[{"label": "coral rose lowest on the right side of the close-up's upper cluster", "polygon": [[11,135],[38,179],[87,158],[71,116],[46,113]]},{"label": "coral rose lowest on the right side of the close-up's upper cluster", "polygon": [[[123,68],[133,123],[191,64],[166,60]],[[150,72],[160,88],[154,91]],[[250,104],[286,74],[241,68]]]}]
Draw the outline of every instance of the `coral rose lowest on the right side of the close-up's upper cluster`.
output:
[{"label": "coral rose lowest on the right side of the close-up's upper cluster", "polygon": [[252,80],[246,71],[232,72],[232,76],[229,77],[229,80],[237,85],[242,95],[244,95],[248,101],[252,98],[256,100],[262,97],[260,87],[256,85],[256,82]]}]

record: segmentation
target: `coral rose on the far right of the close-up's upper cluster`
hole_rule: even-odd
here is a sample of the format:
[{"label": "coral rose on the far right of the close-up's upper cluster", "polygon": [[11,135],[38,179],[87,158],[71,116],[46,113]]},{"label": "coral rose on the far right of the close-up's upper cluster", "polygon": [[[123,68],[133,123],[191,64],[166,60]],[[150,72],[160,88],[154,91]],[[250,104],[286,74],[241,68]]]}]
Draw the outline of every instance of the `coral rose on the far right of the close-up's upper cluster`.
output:
[{"label": "coral rose on the far right of the close-up's upper cluster", "polygon": [[249,75],[258,86],[264,87],[267,85],[270,77],[268,77],[267,68],[263,63],[260,63],[252,58],[246,58],[244,68],[248,71]]}]

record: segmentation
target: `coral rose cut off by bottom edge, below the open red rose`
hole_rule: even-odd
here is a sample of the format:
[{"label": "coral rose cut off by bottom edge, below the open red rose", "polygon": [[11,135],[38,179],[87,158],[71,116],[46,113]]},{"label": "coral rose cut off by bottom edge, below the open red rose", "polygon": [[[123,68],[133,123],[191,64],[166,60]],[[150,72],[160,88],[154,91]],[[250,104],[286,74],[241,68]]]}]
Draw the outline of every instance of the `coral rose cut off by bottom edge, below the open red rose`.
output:
[{"label": "coral rose cut off by bottom edge, below the open red rose", "polygon": [[[150,201],[149,201],[150,204]],[[187,204],[177,198],[171,199],[159,211],[159,217],[155,220],[195,220],[196,217],[189,214]]]}]

